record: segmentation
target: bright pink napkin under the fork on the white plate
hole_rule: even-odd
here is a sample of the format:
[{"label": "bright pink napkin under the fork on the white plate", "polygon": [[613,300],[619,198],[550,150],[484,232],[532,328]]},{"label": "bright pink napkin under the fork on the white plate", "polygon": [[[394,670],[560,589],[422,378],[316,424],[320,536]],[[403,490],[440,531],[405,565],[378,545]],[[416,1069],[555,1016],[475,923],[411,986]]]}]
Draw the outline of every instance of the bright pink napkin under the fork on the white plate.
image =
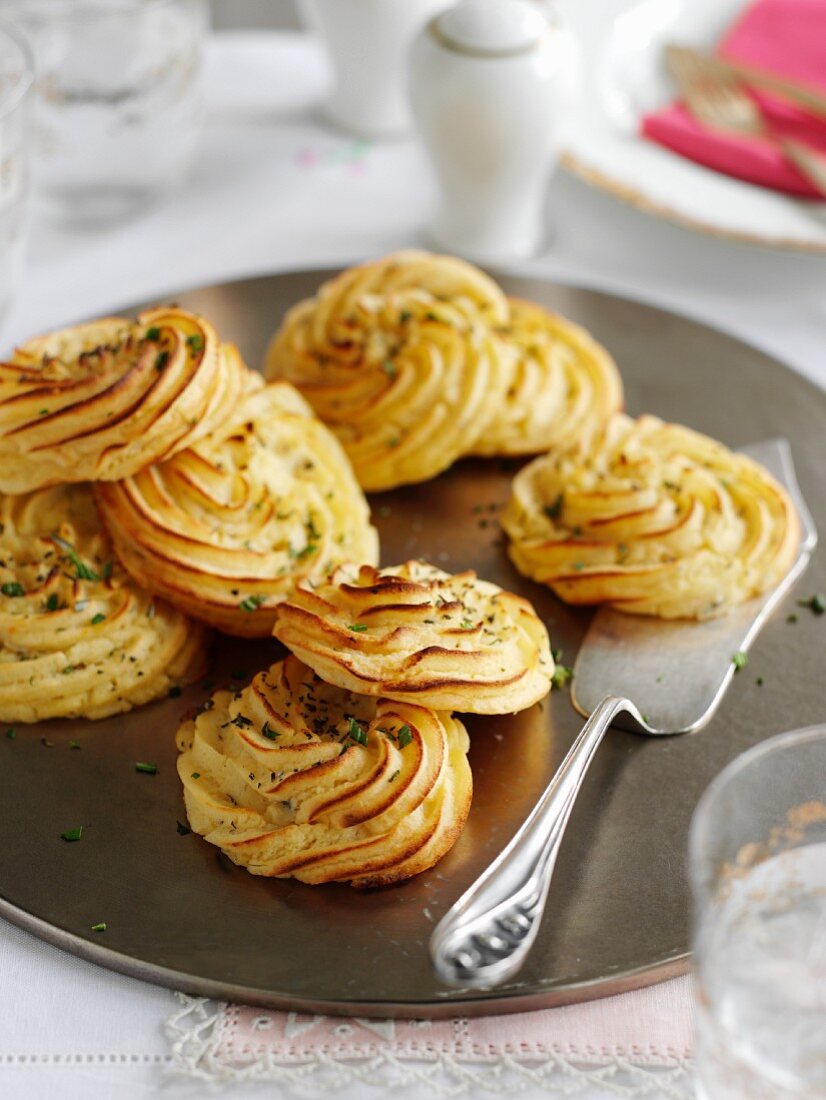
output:
[{"label": "bright pink napkin under the fork on the white plate", "polygon": [[[826,92],[826,0],[757,0],[717,52]],[[773,133],[804,141],[826,155],[826,120],[766,92],[753,92],[753,97]],[[708,130],[680,103],[647,114],[641,131],[660,145],[728,176],[790,195],[823,198],[771,140]]]}]

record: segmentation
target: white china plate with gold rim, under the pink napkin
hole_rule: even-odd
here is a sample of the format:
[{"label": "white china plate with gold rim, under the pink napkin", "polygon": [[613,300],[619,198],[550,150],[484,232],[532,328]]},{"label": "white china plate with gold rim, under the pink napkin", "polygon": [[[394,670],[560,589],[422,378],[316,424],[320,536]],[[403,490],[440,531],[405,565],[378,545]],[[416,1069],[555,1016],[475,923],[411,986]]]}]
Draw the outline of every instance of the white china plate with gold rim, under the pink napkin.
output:
[{"label": "white china plate with gold rim, under the pink napkin", "polygon": [[713,50],[744,0],[642,0],[613,20],[604,4],[566,0],[563,7],[581,50],[580,92],[562,160],[569,170],[692,229],[826,252],[826,202],[733,179],[639,136],[640,116],[674,98],[663,45]]}]

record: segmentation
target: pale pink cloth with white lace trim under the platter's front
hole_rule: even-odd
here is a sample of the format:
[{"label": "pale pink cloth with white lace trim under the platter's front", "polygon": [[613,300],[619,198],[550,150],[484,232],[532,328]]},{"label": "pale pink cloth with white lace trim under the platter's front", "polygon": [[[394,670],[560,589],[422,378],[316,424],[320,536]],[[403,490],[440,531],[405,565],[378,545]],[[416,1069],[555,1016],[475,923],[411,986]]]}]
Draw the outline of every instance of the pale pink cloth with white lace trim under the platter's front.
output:
[{"label": "pale pink cloth with white lace trim under the platter's front", "polygon": [[275,1012],[178,994],[173,1072],[214,1084],[277,1081],[288,1096],[351,1086],[416,1096],[504,1091],[693,1097],[691,980],[559,1009],[452,1020]]}]

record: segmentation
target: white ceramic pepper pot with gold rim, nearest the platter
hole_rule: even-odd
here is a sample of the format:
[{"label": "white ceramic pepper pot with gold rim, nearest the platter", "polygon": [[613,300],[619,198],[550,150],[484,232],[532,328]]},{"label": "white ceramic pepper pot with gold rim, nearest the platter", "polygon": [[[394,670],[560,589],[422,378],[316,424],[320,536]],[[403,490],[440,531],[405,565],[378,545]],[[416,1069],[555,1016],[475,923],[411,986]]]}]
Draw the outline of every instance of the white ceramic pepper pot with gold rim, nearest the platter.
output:
[{"label": "white ceramic pepper pot with gold rim, nearest the platter", "polygon": [[440,188],[439,248],[478,263],[540,250],[573,52],[529,0],[462,0],[419,33],[410,101]]}]

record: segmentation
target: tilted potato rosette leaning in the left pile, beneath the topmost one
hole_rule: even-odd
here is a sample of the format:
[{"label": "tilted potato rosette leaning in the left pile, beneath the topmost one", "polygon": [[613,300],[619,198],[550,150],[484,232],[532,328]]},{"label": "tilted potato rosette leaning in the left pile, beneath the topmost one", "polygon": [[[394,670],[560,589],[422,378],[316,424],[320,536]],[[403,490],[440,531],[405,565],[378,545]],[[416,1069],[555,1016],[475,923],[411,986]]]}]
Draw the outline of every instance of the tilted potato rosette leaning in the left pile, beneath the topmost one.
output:
[{"label": "tilted potato rosette leaning in the left pile, beneath the topmost one", "polygon": [[194,447],[95,492],[132,576],[228,634],[268,637],[297,581],[378,560],[346,455],[286,382],[249,393]]}]

